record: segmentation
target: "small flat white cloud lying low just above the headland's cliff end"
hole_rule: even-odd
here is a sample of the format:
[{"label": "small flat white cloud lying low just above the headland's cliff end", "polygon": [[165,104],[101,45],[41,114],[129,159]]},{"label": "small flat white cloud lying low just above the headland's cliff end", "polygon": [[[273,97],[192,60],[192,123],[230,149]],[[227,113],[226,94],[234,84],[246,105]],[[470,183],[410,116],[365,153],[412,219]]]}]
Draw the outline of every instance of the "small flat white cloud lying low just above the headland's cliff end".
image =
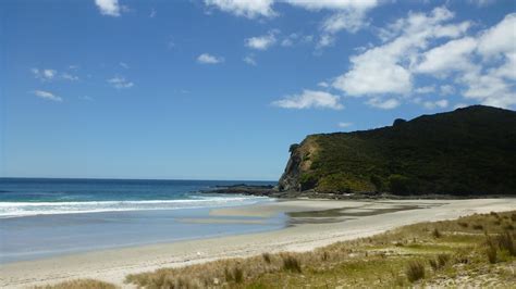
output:
[{"label": "small flat white cloud lying low just above the headland's cliff end", "polygon": [[272,102],[272,105],[283,109],[331,109],[342,110],[344,105],[340,102],[340,97],[324,91],[303,90],[300,95],[287,96],[281,100]]}]

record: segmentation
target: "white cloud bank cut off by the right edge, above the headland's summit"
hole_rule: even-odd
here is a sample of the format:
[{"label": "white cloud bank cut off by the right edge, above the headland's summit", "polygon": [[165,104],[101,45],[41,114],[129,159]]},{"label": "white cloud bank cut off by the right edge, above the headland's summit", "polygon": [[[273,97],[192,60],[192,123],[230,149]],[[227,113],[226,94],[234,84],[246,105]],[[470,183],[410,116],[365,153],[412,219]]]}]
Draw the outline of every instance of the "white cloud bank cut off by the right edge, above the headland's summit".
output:
[{"label": "white cloud bank cut off by the right edge, above the headland's summit", "polygon": [[[477,37],[449,41],[425,53],[416,72],[437,77],[458,71],[455,81],[465,98],[508,108],[516,104],[516,13]],[[479,58],[481,60],[479,60]]]}]

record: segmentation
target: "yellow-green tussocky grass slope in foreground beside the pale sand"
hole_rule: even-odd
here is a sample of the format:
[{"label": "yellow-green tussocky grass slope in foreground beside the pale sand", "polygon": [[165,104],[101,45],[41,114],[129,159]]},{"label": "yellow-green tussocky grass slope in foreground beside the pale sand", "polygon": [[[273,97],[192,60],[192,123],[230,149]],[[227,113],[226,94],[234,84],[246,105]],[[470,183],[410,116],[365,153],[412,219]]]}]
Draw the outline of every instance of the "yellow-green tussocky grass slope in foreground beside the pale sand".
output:
[{"label": "yellow-green tussocky grass slope in foreground beside the pale sand", "polygon": [[[128,275],[126,282],[145,288],[390,288],[467,287],[470,281],[482,287],[490,278],[495,281],[489,287],[503,287],[516,284],[516,275],[503,269],[516,266],[515,231],[504,228],[516,225],[513,216],[516,219],[516,212],[420,223],[311,252],[163,268]],[[493,224],[497,219],[501,224]]]}]

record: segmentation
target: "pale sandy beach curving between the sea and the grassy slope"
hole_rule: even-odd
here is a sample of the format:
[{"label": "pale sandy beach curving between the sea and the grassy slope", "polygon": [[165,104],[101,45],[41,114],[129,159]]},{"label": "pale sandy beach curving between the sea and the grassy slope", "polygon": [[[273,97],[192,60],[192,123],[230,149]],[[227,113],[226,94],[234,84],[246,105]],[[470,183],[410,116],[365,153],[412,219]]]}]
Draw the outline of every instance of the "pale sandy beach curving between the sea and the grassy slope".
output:
[{"label": "pale sandy beach curving between the sea and the grassy slope", "polygon": [[[0,287],[23,288],[75,278],[95,278],[131,288],[123,284],[125,276],[131,273],[263,252],[312,250],[413,223],[515,209],[516,199],[292,200],[220,209],[213,210],[211,215],[234,217],[297,213],[294,213],[295,217],[292,219],[294,225],[275,231],[95,251],[4,264],[0,265]],[[311,211],[322,212],[304,213]],[[210,221],[202,219],[202,222]]]}]

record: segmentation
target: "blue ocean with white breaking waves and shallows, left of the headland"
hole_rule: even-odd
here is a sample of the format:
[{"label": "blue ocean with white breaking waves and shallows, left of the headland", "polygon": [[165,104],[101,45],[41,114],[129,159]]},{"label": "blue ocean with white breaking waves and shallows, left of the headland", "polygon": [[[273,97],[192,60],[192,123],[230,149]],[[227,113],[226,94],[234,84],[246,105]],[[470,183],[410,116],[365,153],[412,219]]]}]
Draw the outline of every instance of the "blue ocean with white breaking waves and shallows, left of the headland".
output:
[{"label": "blue ocean with white breaking waves and shallows, left of the headland", "polygon": [[[285,216],[214,217],[274,201],[200,191],[243,181],[0,178],[0,263],[280,229]],[[245,181],[275,185],[270,181]],[[224,222],[193,222],[223,218]],[[257,219],[258,222],[241,222]]]}]

